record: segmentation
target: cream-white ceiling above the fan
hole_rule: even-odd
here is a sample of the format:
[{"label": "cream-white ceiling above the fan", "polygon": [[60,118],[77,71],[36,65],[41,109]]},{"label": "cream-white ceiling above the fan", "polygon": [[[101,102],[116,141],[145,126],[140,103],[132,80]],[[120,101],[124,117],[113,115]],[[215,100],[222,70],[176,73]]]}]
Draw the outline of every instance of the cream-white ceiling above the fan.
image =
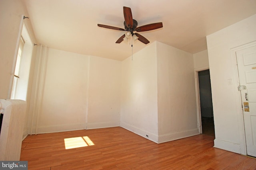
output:
[{"label": "cream-white ceiling above the fan", "polygon": [[206,35],[256,14],[256,0],[24,0],[37,43],[49,48],[115,60],[146,47],[140,41],[115,43],[124,31],[123,6],[138,26],[162,22],[163,28],[140,32],[189,53],[207,49]]}]

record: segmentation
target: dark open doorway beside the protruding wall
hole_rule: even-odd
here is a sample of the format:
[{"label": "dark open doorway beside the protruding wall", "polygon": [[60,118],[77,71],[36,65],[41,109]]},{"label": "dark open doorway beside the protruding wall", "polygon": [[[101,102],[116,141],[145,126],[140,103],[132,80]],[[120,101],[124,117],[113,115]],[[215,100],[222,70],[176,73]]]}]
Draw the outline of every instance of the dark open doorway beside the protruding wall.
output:
[{"label": "dark open doorway beside the protruding wall", "polygon": [[198,71],[202,134],[215,137],[210,70]]}]

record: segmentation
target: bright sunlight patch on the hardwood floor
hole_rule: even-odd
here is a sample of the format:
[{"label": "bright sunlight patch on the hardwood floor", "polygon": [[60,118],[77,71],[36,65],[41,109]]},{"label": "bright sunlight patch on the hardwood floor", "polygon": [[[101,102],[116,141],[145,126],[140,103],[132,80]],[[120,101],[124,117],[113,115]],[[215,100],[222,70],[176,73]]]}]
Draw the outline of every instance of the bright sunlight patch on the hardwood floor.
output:
[{"label": "bright sunlight patch on the hardwood floor", "polygon": [[74,149],[94,145],[94,143],[88,136],[65,138],[64,143],[65,149]]}]

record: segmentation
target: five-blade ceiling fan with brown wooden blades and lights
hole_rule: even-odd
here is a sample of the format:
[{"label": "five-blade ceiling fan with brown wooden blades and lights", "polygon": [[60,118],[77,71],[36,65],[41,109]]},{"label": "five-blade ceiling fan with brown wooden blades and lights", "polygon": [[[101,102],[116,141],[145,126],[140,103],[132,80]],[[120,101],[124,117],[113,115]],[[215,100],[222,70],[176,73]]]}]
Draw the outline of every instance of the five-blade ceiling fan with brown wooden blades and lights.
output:
[{"label": "five-blade ceiling fan with brown wooden blades and lights", "polygon": [[[143,25],[143,26],[140,26],[140,27],[137,27],[137,25],[138,25],[138,22],[136,20],[132,19],[132,10],[131,10],[131,8],[125,7],[125,6],[124,6],[124,29],[109,26],[109,25],[98,24],[99,27],[104,27],[104,28],[108,28],[108,29],[115,29],[115,30],[120,30],[120,31],[126,31],[126,33],[124,35],[122,35],[116,41],[116,43],[121,43],[124,40],[125,37],[128,38],[128,37],[130,37],[130,35],[132,35],[132,37],[135,37],[135,39],[138,39],[142,43],[148,44],[149,43],[148,39],[146,39],[145,37],[143,37],[142,35],[140,35],[138,33],[134,33],[134,31],[136,31],[136,32],[150,31],[150,30],[153,30],[153,29],[158,29],[158,28],[163,27],[162,22],[150,23],[150,24]],[[136,35],[136,36],[134,36],[134,35]]]}]

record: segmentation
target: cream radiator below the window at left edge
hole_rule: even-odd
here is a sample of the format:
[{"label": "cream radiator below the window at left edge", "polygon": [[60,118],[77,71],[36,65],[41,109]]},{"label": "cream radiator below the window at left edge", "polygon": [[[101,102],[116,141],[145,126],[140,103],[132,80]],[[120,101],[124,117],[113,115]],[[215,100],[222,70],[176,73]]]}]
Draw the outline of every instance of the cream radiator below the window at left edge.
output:
[{"label": "cream radiator below the window at left edge", "polygon": [[26,116],[26,102],[0,99],[0,113],[3,114],[0,131],[0,160],[18,161]]}]

